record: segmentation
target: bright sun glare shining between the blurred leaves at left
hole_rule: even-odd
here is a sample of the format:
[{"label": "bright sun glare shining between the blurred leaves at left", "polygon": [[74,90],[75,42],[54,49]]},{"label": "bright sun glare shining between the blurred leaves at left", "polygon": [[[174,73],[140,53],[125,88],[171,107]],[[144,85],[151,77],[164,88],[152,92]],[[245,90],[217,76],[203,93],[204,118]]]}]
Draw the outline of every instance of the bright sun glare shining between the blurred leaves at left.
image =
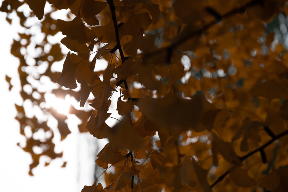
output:
[{"label": "bright sun glare shining between the blurred leaves at left", "polygon": [[58,111],[58,113],[68,115],[70,107],[70,95],[66,95],[65,99],[63,100],[57,98],[54,94],[49,94],[45,99],[48,107],[53,107]]}]

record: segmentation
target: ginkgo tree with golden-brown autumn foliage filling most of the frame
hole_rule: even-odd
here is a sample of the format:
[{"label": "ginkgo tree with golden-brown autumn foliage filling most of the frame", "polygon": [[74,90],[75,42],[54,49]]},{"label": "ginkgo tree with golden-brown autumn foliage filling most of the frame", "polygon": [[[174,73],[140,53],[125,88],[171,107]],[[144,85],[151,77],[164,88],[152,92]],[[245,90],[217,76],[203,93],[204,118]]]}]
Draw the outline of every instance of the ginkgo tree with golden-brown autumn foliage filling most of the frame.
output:
[{"label": "ginkgo tree with golden-brown autumn foliage filling most of the frame", "polygon": [[[81,119],[79,131],[109,139],[96,159],[97,166],[115,169],[103,173],[108,186],[103,189],[96,179],[82,192],[286,191],[288,57],[268,26],[288,13],[288,1],[47,2],[47,13],[46,0],[4,0],[0,10],[10,23],[15,11],[26,29],[29,19],[40,20],[43,41],[35,43],[37,33],[26,30],[11,47],[20,60],[23,101],[52,114],[65,139],[67,116],[43,105],[39,85],[49,77],[65,87],[52,93],[71,95],[85,106],[69,111]],[[33,11],[28,16],[19,8],[26,3]],[[58,9],[71,11],[68,21],[52,16]],[[62,45],[49,40],[58,31],[70,50],[61,73],[53,65],[63,59]],[[100,58],[107,61],[105,70],[97,70]],[[29,70],[43,65],[42,72]],[[111,100],[115,92],[117,101]],[[122,118],[108,126],[114,103]],[[32,155],[31,170],[42,155],[61,157],[47,119],[16,109],[22,135],[27,127],[33,134],[50,133],[44,140],[27,138],[23,149]]]}]

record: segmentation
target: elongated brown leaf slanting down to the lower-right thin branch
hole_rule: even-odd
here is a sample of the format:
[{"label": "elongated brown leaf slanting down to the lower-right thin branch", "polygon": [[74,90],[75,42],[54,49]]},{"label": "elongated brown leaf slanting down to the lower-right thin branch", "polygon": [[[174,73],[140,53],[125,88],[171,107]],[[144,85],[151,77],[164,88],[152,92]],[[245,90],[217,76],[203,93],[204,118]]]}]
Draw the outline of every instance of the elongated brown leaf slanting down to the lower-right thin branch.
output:
[{"label": "elongated brown leaf slanting down to the lower-right thin branch", "polygon": [[212,144],[217,145],[218,150],[221,153],[221,155],[223,156],[223,158],[230,163],[234,163],[238,166],[242,166],[243,163],[240,160],[240,158],[236,155],[236,153],[234,151],[233,143],[222,141],[218,137],[218,135],[216,135],[213,132],[212,132],[212,136],[213,136],[213,141],[215,141]]}]

